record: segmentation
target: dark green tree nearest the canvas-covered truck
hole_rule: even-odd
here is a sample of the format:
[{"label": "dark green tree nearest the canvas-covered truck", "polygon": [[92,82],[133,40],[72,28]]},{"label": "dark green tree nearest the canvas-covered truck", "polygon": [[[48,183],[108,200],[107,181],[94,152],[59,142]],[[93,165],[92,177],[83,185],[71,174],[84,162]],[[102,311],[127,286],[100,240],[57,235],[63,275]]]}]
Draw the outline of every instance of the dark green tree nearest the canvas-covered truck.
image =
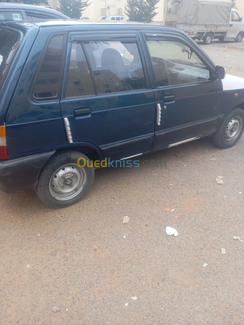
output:
[{"label": "dark green tree nearest the canvas-covered truck", "polygon": [[125,13],[132,21],[151,22],[159,0],[127,0]]}]

